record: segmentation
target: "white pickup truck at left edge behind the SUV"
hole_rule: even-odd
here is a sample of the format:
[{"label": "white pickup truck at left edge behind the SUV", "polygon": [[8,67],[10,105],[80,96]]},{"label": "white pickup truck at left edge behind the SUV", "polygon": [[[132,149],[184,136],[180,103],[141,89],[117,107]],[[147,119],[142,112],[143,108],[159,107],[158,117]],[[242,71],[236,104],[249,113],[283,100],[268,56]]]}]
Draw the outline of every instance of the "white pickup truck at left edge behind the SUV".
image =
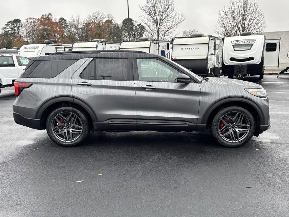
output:
[{"label": "white pickup truck at left edge behind the SUV", "polygon": [[25,70],[29,59],[17,54],[0,54],[0,93],[3,87],[12,87]]}]

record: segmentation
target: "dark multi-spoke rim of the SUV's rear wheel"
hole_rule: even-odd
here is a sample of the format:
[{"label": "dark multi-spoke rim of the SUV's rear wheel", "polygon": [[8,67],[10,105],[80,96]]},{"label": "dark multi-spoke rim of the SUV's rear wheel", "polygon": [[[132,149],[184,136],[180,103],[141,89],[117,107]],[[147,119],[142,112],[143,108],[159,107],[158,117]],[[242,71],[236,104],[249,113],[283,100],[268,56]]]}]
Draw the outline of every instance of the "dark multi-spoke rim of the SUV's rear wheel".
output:
[{"label": "dark multi-spoke rim of the SUV's rear wheel", "polygon": [[61,142],[73,142],[82,134],[81,119],[73,112],[61,112],[51,122],[52,134]]}]

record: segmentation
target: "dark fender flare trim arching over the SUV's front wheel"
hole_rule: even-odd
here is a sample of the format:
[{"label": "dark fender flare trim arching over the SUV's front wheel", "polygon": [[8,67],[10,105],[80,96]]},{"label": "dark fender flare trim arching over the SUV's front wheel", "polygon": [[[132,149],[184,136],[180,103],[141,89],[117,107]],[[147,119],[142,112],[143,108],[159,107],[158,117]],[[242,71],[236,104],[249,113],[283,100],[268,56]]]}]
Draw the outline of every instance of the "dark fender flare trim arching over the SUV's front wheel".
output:
[{"label": "dark fender flare trim arching over the SUV's front wheel", "polygon": [[245,103],[245,104],[248,104],[249,106],[252,106],[257,111],[257,113],[259,115],[260,123],[261,124],[265,123],[264,113],[262,112],[262,109],[252,99],[247,98],[247,97],[242,97],[242,96],[231,96],[231,97],[218,99],[218,100],[212,102],[207,107],[207,110],[205,111],[200,124],[207,124],[209,116],[212,114],[213,110],[215,110],[220,105],[224,105],[224,104],[230,103],[230,102],[240,102],[240,103]]}]

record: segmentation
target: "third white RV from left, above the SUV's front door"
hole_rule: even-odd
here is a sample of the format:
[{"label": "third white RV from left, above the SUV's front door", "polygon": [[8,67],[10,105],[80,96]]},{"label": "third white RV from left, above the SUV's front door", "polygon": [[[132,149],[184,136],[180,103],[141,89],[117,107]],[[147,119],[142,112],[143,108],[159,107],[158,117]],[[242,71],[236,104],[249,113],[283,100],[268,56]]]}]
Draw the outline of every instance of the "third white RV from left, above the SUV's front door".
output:
[{"label": "third white RV from left, above the SUV's front door", "polygon": [[156,40],[152,38],[139,38],[137,41],[123,41],[120,43],[120,50],[136,50],[147,53],[154,53],[170,58],[170,41]]}]

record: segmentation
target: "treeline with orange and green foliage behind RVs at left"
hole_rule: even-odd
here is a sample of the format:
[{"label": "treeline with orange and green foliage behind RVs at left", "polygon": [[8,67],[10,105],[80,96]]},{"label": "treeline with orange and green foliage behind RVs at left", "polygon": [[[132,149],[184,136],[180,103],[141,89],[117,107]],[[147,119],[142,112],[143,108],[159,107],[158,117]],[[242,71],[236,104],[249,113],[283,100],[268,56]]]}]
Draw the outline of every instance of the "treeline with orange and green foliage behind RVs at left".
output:
[{"label": "treeline with orange and green foliage behind RVs at left", "polygon": [[[141,23],[131,22],[132,38],[138,39],[146,31]],[[117,23],[111,14],[94,12],[85,18],[71,16],[53,18],[52,13],[39,18],[27,18],[24,22],[16,18],[8,21],[0,31],[0,48],[21,47],[23,44],[43,43],[56,39],[57,43],[106,39],[121,42],[127,39],[127,24]]]}]

